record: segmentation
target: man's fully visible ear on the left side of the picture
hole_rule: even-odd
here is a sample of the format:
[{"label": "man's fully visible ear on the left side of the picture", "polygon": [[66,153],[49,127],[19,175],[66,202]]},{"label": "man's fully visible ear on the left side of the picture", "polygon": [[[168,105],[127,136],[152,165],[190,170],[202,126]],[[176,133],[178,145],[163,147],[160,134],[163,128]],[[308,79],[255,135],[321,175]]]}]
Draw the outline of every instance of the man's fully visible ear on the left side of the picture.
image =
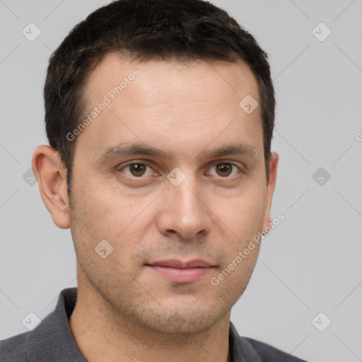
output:
[{"label": "man's fully visible ear on the left side of the picture", "polygon": [[40,195],[54,223],[62,229],[69,228],[69,200],[66,189],[66,168],[59,152],[49,146],[35,149],[32,162]]}]

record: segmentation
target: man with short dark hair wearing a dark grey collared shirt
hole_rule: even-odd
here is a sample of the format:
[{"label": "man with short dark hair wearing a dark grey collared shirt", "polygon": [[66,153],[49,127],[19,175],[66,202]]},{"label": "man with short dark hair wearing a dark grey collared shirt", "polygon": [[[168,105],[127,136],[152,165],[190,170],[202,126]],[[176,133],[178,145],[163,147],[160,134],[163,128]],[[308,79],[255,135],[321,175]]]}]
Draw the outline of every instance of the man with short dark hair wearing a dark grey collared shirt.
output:
[{"label": "man with short dark hair wearing a dark grey collared shirt", "polygon": [[33,170],[78,288],[1,361],[301,361],[230,323],[278,165],[252,35],[206,1],[114,1],[54,52],[44,95]]}]

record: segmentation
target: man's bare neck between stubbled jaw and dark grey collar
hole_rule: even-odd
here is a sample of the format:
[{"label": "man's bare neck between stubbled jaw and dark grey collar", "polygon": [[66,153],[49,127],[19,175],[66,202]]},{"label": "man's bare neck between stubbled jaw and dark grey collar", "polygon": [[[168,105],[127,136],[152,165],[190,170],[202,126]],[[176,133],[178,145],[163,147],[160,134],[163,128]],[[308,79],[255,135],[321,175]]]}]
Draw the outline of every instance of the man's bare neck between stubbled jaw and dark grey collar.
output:
[{"label": "man's bare neck between stubbled jaw and dark grey collar", "polygon": [[228,362],[229,318],[200,334],[156,334],[115,315],[94,289],[78,284],[69,327],[88,362]]}]

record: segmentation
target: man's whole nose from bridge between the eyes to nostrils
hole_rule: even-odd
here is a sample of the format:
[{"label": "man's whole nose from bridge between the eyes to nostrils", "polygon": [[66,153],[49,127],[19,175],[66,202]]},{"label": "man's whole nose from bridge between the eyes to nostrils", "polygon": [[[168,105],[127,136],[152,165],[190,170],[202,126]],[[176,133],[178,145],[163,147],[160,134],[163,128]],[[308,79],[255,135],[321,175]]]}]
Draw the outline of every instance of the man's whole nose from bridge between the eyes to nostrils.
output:
[{"label": "man's whole nose from bridge between the eyes to nostrils", "polygon": [[206,205],[201,201],[201,187],[192,171],[174,169],[168,174],[164,203],[158,227],[162,233],[171,230],[182,238],[192,238],[211,227]]}]

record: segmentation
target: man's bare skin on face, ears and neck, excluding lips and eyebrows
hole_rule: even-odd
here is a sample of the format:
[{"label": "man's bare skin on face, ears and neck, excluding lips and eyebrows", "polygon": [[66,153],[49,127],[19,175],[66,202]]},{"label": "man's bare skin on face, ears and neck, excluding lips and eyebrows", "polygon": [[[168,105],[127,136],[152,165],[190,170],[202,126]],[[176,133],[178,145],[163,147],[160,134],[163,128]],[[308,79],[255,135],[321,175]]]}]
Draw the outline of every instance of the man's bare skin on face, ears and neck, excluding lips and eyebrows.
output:
[{"label": "man's bare skin on face, ears and neck, excluding lips and eyebrows", "polygon": [[[74,140],[70,200],[57,151],[39,146],[33,156],[42,199],[74,240],[71,332],[90,362],[226,362],[230,308],[259,247],[218,286],[211,278],[269,225],[278,165],[272,153],[267,182],[260,107],[248,115],[239,106],[246,95],[259,102],[257,82],[242,62],[139,63],[108,54],[88,78],[89,111],[133,69],[139,76]],[[118,144],[157,147],[168,157],[101,159]],[[252,151],[210,154],[237,144]],[[139,168],[131,161],[146,173],[133,175]],[[176,167],[186,176],[178,186],[167,178]],[[105,259],[95,252],[100,240],[113,247]],[[146,266],[161,259],[204,259],[213,268],[177,283]]]}]

